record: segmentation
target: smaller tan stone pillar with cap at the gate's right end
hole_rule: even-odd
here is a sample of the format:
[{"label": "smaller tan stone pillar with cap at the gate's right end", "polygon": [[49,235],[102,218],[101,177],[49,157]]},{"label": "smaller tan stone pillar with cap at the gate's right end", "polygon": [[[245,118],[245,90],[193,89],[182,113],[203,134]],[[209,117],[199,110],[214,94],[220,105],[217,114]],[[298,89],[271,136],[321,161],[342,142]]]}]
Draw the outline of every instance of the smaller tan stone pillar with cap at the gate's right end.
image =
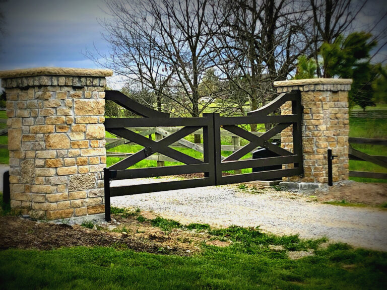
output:
[{"label": "smaller tan stone pillar with cap at the gate's right end", "polygon": [[[352,80],[307,79],[274,82],[279,93],[301,91],[303,176],[284,177],[284,182],[328,183],[328,149],[333,160],[333,181],[348,180],[348,91]],[[291,114],[291,102],[281,107]],[[291,127],[281,133],[282,148],[292,150]]]}]

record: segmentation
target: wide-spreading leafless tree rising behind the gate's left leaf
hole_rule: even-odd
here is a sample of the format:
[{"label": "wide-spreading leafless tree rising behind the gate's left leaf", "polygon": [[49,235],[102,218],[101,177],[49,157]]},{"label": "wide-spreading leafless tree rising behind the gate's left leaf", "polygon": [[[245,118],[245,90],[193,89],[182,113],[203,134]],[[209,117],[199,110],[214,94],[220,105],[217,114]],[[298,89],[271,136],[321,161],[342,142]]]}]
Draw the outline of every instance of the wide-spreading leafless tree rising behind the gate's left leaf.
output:
[{"label": "wide-spreading leafless tree rising behind the gate's left leaf", "polygon": [[[107,67],[147,87],[157,97],[166,97],[183,110],[199,117],[211,100],[200,104],[199,84],[213,66],[208,50],[215,26],[216,0],[106,0],[109,18],[102,22],[109,55],[92,55]],[[196,141],[200,141],[196,135]]]}]

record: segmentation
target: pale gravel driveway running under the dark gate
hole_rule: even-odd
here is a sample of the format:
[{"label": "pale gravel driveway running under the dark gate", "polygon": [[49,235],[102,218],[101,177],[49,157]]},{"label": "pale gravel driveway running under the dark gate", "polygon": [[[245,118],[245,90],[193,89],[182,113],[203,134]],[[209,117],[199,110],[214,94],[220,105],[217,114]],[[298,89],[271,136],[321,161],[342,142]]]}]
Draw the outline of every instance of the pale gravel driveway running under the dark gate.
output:
[{"label": "pale gravel driveway running under the dark gate", "polygon": [[[145,182],[159,181],[147,179]],[[113,181],[111,185],[128,182],[133,181]],[[154,211],[183,224],[260,226],[260,229],[277,235],[326,236],[331,242],[387,251],[385,210],[310,202],[300,194],[272,188],[261,192],[251,194],[236,185],[209,186],[112,197],[111,203],[117,207]]]}]

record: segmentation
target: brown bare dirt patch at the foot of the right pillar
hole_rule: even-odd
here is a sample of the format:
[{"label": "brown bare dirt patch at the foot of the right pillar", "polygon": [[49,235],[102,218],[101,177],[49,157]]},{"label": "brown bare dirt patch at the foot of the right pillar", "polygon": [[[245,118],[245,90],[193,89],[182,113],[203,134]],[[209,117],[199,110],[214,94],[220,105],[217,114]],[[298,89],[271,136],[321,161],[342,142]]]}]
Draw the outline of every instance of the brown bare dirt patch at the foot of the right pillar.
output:
[{"label": "brown bare dirt patch at the foot of the right pillar", "polygon": [[345,200],[353,203],[381,205],[387,202],[387,183],[339,182],[328,189],[316,190],[319,201]]}]

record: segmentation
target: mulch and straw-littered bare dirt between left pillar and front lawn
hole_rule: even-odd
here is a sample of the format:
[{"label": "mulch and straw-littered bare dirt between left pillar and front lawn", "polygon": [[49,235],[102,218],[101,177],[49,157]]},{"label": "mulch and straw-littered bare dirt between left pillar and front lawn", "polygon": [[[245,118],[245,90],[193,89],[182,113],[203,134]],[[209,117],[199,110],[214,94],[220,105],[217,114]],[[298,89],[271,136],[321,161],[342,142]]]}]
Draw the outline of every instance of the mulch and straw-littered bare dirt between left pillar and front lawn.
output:
[{"label": "mulch and straw-littered bare dirt between left pillar and front lawn", "polygon": [[[144,212],[144,216],[153,216]],[[138,252],[188,256],[200,252],[198,245],[212,237],[205,232],[172,229],[164,232],[137,216],[113,216],[114,224],[88,229],[80,225],[39,223],[17,216],[0,217],[0,249],[50,250],[60,247],[103,246]],[[223,246],[223,245],[219,245]]]}]

